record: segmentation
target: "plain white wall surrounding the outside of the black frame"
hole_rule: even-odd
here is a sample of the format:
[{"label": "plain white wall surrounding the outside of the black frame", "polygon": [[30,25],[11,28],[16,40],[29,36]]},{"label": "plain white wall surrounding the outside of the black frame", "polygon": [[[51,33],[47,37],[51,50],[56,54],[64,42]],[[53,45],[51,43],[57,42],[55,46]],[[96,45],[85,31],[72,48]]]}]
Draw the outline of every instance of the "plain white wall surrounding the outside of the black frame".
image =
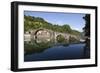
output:
[{"label": "plain white wall surrounding the outside of the black frame", "polygon": [[[0,73],[11,73],[10,71],[10,2],[13,0],[0,0]],[[18,1],[18,0],[16,0]],[[62,3],[62,4],[78,4],[78,5],[94,5],[98,6],[98,13],[100,13],[100,0],[21,0],[21,1],[34,1],[46,3]],[[98,14],[100,16],[100,14]],[[100,17],[98,17],[99,19]],[[99,24],[100,22],[98,22]],[[100,25],[98,25],[100,27]],[[100,28],[99,28],[100,31]],[[99,36],[100,37],[100,34]],[[100,38],[98,39],[100,40]],[[98,42],[100,43],[100,42]],[[100,48],[100,46],[99,46]],[[98,48],[100,55],[100,50]],[[99,58],[100,61],[100,58]],[[100,64],[100,63],[99,63]],[[60,70],[44,70],[35,71],[36,73],[99,73],[100,66],[90,68],[73,68],[73,69],[60,69]],[[30,71],[32,73],[32,71]]]}]

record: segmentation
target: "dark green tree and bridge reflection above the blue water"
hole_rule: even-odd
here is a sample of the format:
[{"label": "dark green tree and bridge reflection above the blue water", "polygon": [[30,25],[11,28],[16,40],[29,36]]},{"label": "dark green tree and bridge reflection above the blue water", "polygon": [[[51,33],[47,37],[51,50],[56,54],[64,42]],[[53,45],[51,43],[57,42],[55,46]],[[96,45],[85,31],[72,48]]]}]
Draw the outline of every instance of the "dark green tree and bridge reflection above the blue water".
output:
[{"label": "dark green tree and bridge reflection above the blue water", "polygon": [[[39,39],[40,40],[40,39]],[[38,39],[31,40],[30,42],[24,42],[24,54],[34,54],[34,53],[41,53],[48,48],[53,46],[68,46],[70,43],[68,40],[62,40],[61,37],[58,38],[58,42],[54,42],[54,40],[44,41],[43,39],[39,42]]]}]

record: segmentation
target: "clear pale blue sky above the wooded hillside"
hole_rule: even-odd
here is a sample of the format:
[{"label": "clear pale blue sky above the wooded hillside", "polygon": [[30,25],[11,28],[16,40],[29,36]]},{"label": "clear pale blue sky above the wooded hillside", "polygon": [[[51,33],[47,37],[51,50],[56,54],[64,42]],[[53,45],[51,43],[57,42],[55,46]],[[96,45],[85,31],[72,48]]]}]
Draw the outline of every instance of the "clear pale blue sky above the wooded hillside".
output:
[{"label": "clear pale blue sky above the wooded hillside", "polygon": [[73,30],[78,30],[80,32],[83,31],[82,28],[85,26],[85,20],[83,19],[85,14],[81,13],[24,11],[24,15],[41,17],[52,24],[68,24]]}]

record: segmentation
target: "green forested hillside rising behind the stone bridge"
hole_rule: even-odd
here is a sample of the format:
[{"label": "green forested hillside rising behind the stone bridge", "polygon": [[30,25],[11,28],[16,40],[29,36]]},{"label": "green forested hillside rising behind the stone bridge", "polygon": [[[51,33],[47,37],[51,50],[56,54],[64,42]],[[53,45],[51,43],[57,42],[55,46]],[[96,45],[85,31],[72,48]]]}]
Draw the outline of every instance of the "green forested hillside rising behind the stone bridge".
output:
[{"label": "green forested hillside rising behind the stone bridge", "polygon": [[62,32],[62,33],[69,33],[73,35],[80,35],[81,32],[74,30],[70,27],[70,24],[52,24],[50,22],[47,22],[41,17],[33,17],[33,16],[25,16],[24,15],[24,31],[29,31],[30,29],[38,29],[38,28],[45,28],[50,29],[52,31],[56,32]]}]

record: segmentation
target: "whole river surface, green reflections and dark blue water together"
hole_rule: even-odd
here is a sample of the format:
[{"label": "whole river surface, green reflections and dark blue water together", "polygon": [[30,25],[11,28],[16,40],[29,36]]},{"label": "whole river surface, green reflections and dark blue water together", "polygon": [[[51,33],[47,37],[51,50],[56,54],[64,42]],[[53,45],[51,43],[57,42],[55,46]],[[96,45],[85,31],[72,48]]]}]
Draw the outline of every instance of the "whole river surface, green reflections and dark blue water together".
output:
[{"label": "whole river surface, green reflections and dark blue water together", "polygon": [[90,58],[86,43],[54,42],[37,38],[24,43],[24,61],[45,61]]}]

